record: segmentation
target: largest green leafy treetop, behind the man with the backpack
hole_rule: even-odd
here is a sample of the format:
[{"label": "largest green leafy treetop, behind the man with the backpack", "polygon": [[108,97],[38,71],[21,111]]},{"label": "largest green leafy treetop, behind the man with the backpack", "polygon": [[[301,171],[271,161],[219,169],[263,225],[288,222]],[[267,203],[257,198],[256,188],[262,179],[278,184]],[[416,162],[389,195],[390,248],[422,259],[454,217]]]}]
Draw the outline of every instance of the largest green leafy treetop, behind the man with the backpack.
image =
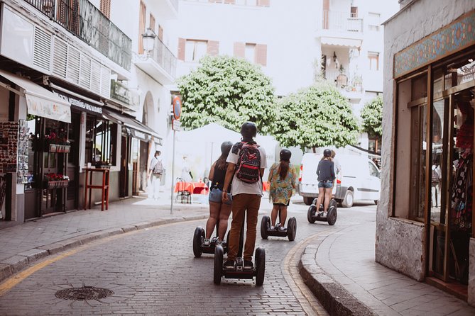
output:
[{"label": "largest green leafy treetop, behind the man with the backpack", "polygon": [[209,123],[239,131],[242,123],[256,123],[266,134],[275,116],[271,79],[259,67],[228,56],[203,57],[200,67],[178,79],[185,129]]}]

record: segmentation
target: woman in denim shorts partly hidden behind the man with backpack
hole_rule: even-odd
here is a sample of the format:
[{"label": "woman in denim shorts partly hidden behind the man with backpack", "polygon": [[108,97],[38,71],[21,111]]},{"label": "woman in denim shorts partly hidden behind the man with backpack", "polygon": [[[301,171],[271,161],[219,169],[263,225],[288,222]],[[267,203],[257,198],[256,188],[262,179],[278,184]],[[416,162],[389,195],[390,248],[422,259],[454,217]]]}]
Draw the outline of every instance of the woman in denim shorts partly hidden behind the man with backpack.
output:
[{"label": "woman in denim shorts partly hidden behind the man with backpack", "polygon": [[214,226],[218,223],[218,240],[217,245],[221,244],[224,240],[224,235],[228,229],[228,219],[229,214],[231,214],[231,186],[228,186],[226,191],[229,198],[228,201],[223,201],[222,193],[224,186],[224,178],[226,177],[226,170],[228,168],[228,163],[226,159],[231,147],[233,146],[232,142],[223,142],[221,144],[221,156],[214,162],[209,170],[208,179],[211,181],[211,191],[209,191],[209,218],[206,222],[206,235],[204,238],[204,245],[209,246],[211,243],[209,238],[214,230]]}]

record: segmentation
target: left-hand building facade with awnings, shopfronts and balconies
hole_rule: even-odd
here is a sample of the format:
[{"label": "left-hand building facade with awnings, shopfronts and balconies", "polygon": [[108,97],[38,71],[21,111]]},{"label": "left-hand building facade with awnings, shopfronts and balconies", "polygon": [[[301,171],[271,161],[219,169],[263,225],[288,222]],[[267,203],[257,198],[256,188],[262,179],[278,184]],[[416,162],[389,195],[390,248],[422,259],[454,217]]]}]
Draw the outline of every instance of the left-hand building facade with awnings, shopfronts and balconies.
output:
[{"label": "left-hand building facade with awnings, shopfronts and balconies", "polygon": [[[94,167],[107,169],[110,201],[146,191],[169,129],[175,56],[163,30],[178,13],[178,1],[149,2],[0,1],[2,220],[85,208]],[[102,190],[87,198],[100,203]]]}]

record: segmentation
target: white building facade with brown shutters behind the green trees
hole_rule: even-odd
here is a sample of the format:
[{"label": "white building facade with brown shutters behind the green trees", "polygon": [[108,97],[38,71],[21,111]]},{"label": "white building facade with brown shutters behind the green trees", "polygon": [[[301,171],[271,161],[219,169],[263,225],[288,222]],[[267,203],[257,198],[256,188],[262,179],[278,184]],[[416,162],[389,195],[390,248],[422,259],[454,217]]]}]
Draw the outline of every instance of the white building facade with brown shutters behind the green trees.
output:
[{"label": "white building facade with brown shutters behind the green trees", "polygon": [[[173,27],[177,76],[204,55],[242,57],[261,66],[278,96],[317,76],[334,82],[359,117],[383,91],[381,22],[397,8],[373,0],[181,0]],[[361,135],[361,147],[380,149],[375,145]]]}]

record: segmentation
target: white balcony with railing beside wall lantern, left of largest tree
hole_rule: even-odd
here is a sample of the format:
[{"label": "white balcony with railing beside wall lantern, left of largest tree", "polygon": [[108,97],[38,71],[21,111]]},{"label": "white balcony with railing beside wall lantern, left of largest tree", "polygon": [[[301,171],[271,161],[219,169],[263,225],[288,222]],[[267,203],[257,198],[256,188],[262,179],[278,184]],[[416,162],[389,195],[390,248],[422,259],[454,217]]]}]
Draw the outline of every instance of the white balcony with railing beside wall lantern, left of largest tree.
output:
[{"label": "white balcony with railing beside wall lantern, left of largest tree", "polygon": [[158,37],[155,37],[153,50],[137,55],[134,63],[160,84],[173,84],[175,81],[177,57]]}]

